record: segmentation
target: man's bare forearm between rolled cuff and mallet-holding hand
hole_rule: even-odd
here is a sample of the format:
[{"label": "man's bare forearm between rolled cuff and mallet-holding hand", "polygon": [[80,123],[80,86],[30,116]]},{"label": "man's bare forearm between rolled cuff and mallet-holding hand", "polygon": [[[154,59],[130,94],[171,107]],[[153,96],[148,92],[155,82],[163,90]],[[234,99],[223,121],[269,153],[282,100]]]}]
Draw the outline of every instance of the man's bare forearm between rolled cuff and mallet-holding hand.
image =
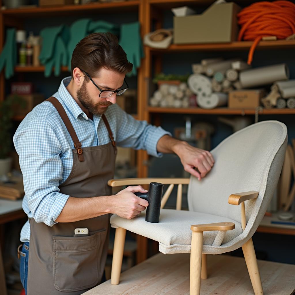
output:
[{"label": "man's bare forearm between rolled cuff and mallet-holding hand", "polygon": [[55,222],[75,222],[110,213],[111,196],[69,197]]}]

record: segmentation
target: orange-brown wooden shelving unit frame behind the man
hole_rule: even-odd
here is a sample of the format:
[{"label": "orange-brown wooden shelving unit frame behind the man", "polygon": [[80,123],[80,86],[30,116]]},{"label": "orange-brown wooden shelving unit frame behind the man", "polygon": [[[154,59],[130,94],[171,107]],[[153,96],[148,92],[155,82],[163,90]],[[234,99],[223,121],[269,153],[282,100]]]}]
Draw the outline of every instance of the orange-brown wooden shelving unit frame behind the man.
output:
[{"label": "orange-brown wooden shelving unit frame behind the man", "polygon": [[[154,29],[162,27],[163,10],[171,9],[172,7],[189,5],[192,7],[207,7],[214,0],[130,0],[112,3],[93,3],[85,5],[67,5],[53,7],[32,7],[24,9],[6,9],[0,10],[0,52],[4,45],[4,28],[5,26],[16,27],[22,29],[24,20],[27,18],[47,18],[47,17],[63,17],[76,16],[82,18],[87,14],[96,14],[99,12],[136,12],[138,13],[138,21],[141,24],[141,36]],[[237,0],[237,4],[242,6],[250,4],[251,0]],[[0,7],[2,1],[0,0]],[[153,24],[153,26],[152,26]],[[155,114],[215,114],[215,115],[254,115],[255,110],[240,110],[217,108],[213,110],[204,110],[200,108],[156,108],[149,107],[148,100],[150,96],[150,81],[154,74],[162,71],[162,58],[166,53],[185,53],[194,51],[232,51],[232,50],[248,50],[252,42],[231,42],[231,43],[212,43],[212,44],[173,44],[167,49],[155,49],[144,46],[145,58],[142,60],[142,65],[138,69],[137,88],[138,88],[138,103],[137,115],[140,120],[150,121],[150,118]],[[295,40],[278,40],[278,41],[262,41],[257,47],[257,50],[273,50],[273,49],[290,49],[295,48]],[[154,72],[152,72],[152,62],[154,63]],[[15,68],[15,73],[32,73],[43,72],[44,66],[39,67],[19,67]],[[68,71],[67,67],[61,68],[61,71]],[[3,71],[0,73],[0,101],[5,97],[5,78]],[[263,109],[259,114],[295,114],[294,109]],[[22,120],[22,116],[14,118]],[[137,168],[138,177],[148,176],[148,155],[144,151],[137,152]],[[138,236],[137,262],[147,258],[147,239]]]}]

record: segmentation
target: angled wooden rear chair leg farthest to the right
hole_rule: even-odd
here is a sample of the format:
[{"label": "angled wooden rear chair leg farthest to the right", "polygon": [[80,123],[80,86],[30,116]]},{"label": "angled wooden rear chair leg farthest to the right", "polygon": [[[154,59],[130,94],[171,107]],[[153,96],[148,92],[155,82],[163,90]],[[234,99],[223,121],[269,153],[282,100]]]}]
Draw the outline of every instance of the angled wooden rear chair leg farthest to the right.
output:
[{"label": "angled wooden rear chair leg farthest to the right", "polygon": [[257,264],[257,259],[255,255],[252,238],[248,240],[248,242],[242,246],[242,250],[245,256],[254,294],[263,295],[262,283],[261,283],[261,278],[260,278],[260,273],[258,269],[258,264]]}]

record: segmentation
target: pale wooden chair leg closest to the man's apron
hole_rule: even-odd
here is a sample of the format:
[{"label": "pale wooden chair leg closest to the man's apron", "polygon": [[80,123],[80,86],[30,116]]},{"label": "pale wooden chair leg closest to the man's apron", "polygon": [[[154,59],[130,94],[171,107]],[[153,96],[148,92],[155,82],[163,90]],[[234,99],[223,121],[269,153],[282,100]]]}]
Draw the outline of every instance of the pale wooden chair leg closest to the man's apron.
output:
[{"label": "pale wooden chair leg closest to the man's apron", "polygon": [[122,227],[118,227],[116,229],[114,251],[113,251],[113,262],[112,262],[112,273],[111,273],[112,285],[118,285],[120,281],[125,236],[126,236],[126,230]]}]

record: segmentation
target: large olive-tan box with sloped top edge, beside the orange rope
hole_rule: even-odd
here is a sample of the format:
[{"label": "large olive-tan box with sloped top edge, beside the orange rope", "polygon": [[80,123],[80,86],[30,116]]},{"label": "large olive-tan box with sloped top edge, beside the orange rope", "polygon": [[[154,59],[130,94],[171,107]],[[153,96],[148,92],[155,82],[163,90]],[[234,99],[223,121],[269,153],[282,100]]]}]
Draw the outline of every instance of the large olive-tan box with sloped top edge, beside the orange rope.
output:
[{"label": "large olive-tan box with sloped top edge, beside the orange rope", "polygon": [[174,17],[174,43],[225,43],[237,40],[237,13],[234,2],[213,4],[202,14]]}]

